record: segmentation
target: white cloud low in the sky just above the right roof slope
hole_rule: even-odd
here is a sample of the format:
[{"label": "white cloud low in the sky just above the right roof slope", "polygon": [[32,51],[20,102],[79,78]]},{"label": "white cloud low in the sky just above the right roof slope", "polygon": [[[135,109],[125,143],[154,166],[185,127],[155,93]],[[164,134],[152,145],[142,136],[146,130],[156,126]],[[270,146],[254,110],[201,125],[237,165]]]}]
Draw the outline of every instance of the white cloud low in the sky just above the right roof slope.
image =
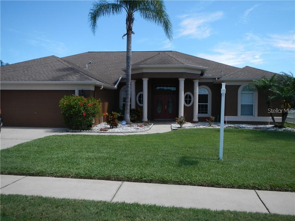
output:
[{"label": "white cloud low in the sky just above the right roof slope", "polygon": [[198,54],[198,57],[217,61],[227,65],[241,65],[246,63],[260,64],[263,59],[260,57],[266,52],[251,50],[247,45],[223,42],[217,44],[213,49],[213,54]]}]

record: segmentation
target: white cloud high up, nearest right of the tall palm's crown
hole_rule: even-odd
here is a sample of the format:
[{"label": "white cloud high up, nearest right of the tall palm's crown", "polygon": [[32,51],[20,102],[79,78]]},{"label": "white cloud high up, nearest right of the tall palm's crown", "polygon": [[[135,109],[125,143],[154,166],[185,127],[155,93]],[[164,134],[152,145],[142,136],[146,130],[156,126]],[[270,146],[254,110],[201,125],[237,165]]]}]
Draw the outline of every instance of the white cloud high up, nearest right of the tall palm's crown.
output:
[{"label": "white cloud high up, nearest right of the tall palm's crown", "polygon": [[212,34],[210,23],[223,17],[222,11],[214,13],[184,14],[179,16],[182,21],[178,32],[178,37],[188,36],[191,38],[203,39]]}]

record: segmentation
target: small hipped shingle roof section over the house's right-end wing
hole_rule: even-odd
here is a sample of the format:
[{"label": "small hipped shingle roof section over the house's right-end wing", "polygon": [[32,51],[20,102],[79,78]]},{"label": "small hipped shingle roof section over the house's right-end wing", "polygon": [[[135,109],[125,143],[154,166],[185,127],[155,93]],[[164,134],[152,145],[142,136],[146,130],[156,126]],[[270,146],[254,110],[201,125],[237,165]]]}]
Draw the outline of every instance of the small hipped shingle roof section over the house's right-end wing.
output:
[{"label": "small hipped shingle roof section over the house's right-end wing", "polygon": [[224,78],[261,78],[261,77],[271,77],[273,76],[274,72],[261,70],[258,68],[245,66],[240,70],[233,72],[230,75],[227,75]]}]

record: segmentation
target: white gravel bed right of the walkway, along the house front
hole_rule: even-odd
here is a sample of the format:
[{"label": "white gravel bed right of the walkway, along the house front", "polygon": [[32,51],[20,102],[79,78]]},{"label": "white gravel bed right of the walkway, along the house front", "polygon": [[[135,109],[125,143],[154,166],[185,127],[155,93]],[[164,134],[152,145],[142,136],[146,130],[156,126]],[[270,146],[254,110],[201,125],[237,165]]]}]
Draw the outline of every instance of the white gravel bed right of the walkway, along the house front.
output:
[{"label": "white gravel bed right of the walkway, along the house front", "polygon": [[[182,128],[220,128],[220,123],[213,122],[212,126],[209,126],[208,122],[199,123],[186,123]],[[268,131],[291,131],[295,132],[294,128],[275,128],[273,125],[251,125],[251,124],[224,124],[224,128],[238,128],[238,129],[249,129],[249,130],[268,130]],[[176,123],[171,124],[172,130],[180,129],[180,126]]]}]

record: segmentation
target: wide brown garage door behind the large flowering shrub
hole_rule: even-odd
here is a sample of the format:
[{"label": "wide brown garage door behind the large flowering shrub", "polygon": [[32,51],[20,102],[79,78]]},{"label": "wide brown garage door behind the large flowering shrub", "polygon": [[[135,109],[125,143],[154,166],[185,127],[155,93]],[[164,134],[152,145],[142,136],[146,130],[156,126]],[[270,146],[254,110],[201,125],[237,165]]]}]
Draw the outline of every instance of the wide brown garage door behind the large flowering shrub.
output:
[{"label": "wide brown garage door behind the large flowering shrub", "polygon": [[59,108],[75,90],[1,90],[3,126],[65,127]]}]

